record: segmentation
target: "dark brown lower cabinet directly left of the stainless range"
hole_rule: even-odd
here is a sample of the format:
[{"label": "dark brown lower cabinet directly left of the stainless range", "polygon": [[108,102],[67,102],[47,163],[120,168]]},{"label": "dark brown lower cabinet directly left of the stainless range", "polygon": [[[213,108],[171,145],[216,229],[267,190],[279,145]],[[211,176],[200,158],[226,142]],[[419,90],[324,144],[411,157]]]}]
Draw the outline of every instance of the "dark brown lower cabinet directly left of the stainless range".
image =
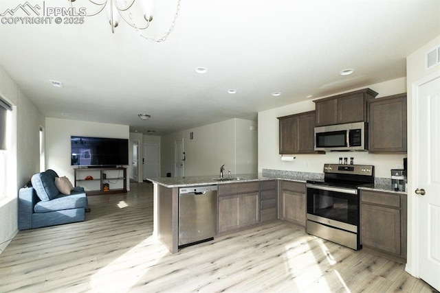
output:
[{"label": "dark brown lower cabinet directly left of the stainless range", "polygon": [[306,188],[305,183],[280,181],[278,217],[305,228]]}]

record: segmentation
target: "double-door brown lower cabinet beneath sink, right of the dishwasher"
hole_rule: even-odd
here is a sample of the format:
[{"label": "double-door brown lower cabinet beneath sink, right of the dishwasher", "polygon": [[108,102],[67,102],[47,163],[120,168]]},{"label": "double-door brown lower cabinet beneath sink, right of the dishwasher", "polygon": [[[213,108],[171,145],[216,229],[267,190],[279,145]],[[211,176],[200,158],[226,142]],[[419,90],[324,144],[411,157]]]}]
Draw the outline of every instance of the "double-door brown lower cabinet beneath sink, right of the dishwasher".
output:
[{"label": "double-door brown lower cabinet beneath sink, right of the dishwasher", "polygon": [[259,182],[219,185],[217,233],[259,224],[259,191]]}]

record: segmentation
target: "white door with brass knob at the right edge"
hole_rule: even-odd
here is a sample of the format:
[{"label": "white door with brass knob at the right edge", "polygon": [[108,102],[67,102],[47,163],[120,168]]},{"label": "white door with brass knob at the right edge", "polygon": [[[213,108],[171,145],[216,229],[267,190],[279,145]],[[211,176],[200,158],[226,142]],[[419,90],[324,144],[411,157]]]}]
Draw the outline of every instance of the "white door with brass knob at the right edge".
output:
[{"label": "white door with brass knob at the right edge", "polygon": [[440,290],[440,77],[419,86],[415,99],[417,154],[411,194],[418,212],[416,261],[419,277]]}]

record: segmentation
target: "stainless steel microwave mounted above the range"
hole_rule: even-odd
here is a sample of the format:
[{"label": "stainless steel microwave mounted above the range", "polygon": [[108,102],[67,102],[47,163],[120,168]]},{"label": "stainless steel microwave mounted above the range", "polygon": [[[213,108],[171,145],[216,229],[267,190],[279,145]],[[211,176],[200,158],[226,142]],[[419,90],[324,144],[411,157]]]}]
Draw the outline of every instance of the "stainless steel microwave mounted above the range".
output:
[{"label": "stainless steel microwave mounted above the range", "polygon": [[315,150],[368,150],[366,122],[338,124],[315,128]]}]

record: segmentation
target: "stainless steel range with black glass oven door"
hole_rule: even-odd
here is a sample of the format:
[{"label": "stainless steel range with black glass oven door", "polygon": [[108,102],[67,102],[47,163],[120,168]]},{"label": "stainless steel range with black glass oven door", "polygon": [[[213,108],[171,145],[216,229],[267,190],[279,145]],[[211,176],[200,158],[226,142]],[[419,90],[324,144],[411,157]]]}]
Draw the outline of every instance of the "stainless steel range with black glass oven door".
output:
[{"label": "stainless steel range with black glass oven door", "polygon": [[324,180],[307,180],[307,233],[358,250],[358,187],[374,185],[372,165],[324,165]]}]

